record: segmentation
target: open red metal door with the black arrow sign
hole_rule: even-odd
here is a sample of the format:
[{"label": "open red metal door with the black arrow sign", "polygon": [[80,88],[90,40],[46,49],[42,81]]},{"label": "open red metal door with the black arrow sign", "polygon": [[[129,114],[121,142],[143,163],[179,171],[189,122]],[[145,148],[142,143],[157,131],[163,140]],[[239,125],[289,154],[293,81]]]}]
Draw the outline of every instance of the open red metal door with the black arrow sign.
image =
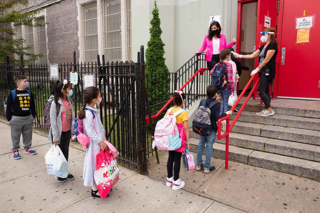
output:
[{"label": "open red metal door with the black arrow sign", "polygon": [[[267,27],[276,28],[276,22],[277,22],[276,7],[277,7],[277,0],[258,0],[256,50],[260,47],[260,32],[262,32],[263,29]],[[254,67],[257,68],[258,57],[255,58],[254,64],[255,64]],[[257,80],[258,80],[258,76],[255,77],[254,83]],[[257,91],[255,91],[253,93],[253,99],[256,99],[257,97],[259,96]]]}]

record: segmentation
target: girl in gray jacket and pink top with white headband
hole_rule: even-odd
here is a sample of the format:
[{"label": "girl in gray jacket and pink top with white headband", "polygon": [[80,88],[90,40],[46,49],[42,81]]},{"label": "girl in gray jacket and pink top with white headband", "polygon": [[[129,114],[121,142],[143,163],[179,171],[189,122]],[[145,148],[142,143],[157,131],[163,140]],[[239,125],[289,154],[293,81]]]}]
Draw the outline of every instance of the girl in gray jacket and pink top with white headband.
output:
[{"label": "girl in gray jacket and pink top with white headband", "polygon": [[[73,134],[72,122],[74,120],[72,108],[72,89],[71,84],[64,80],[56,81],[52,87],[52,96],[48,100],[51,103],[50,107],[50,132],[49,140],[52,144],[58,145],[68,161],[69,156],[69,143],[71,135]],[[58,182],[65,182],[73,180],[74,177],[68,174],[68,177],[62,178],[55,176]]]}]

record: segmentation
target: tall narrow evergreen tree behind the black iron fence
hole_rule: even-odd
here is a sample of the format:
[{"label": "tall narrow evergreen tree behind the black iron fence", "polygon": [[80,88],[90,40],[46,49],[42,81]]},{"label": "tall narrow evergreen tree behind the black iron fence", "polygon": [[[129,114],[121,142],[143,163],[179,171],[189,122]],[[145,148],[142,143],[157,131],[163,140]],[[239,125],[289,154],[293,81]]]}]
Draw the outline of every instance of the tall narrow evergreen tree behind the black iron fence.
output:
[{"label": "tall narrow evergreen tree behind the black iron fence", "polygon": [[[150,106],[169,99],[169,69],[165,65],[164,43],[161,40],[159,9],[154,2],[153,18],[150,21],[150,40],[146,50],[146,87]],[[162,106],[160,106],[161,108]],[[152,108],[152,112],[156,109]]]}]

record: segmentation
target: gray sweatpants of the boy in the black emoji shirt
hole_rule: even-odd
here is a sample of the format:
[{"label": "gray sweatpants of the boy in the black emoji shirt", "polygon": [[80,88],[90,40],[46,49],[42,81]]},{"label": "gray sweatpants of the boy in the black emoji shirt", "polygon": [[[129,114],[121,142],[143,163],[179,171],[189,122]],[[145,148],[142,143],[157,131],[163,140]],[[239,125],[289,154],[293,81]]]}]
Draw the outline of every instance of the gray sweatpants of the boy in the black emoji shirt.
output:
[{"label": "gray sweatpants of the boy in the black emoji shirt", "polygon": [[26,117],[12,116],[10,121],[12,151],[20,149],[20,136],[22,133],[22,142],[24,149],[31,146],[32,141],[32,123],[33,116],[30,114]]}]

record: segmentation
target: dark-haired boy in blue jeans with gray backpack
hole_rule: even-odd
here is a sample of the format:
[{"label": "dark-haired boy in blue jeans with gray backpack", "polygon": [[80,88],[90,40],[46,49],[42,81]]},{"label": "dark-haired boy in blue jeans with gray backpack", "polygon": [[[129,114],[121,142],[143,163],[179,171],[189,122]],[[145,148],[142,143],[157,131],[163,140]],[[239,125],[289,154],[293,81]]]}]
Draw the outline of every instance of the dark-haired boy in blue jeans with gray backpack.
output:
[{"label": "dark-haired boy in blue jeans with gray backpack", "polygon": [[[232,111],[227,111],[220,115],[220,103],[216,101],[218,95],[218,87],[210,84],[207,87],[207,98],[200,101],[196,111],[196,117],[192,121],[192,130],[199,134],[199,145],[197,150],[196,170],[200,171],[204,168],[204,173],[208,174],[214,170],[214,166],[210,166],[213,143],[217,134],[217,121],[232,114]],[[206,146],[205,161],[203,164],[202,154]]]}]

